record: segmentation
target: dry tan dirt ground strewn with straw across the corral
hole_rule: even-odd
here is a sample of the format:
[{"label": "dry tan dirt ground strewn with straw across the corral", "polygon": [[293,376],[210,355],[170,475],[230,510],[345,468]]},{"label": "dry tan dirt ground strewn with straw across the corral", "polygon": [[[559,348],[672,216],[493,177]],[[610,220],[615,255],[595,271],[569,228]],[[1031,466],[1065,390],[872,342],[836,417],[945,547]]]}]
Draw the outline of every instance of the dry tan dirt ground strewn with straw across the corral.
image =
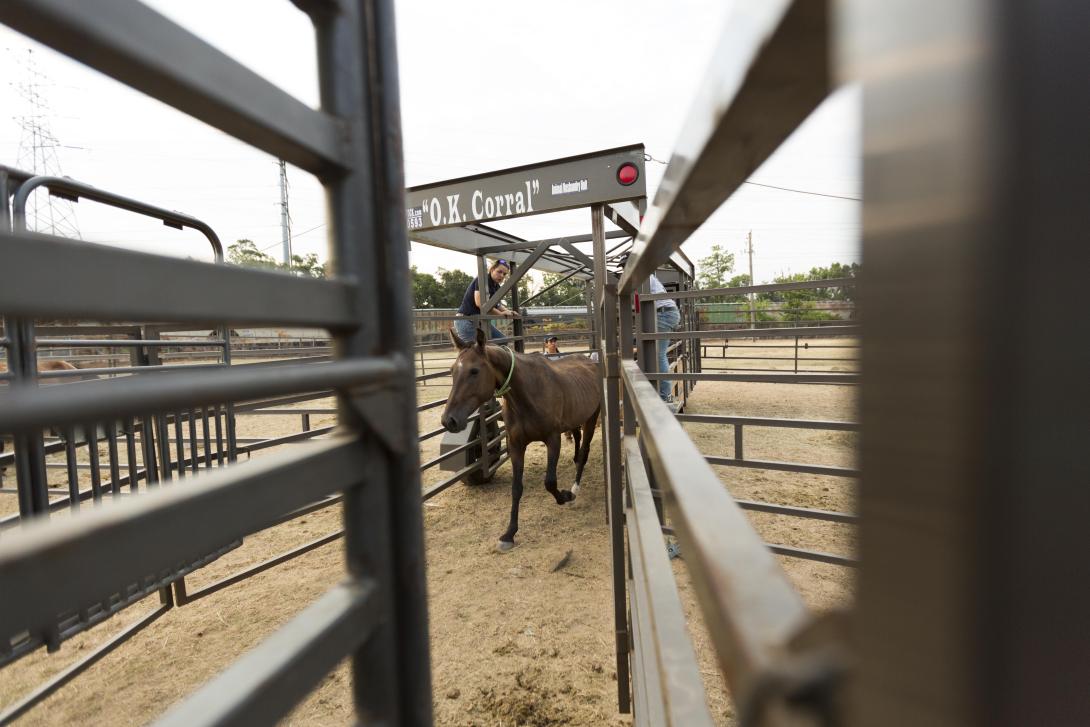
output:
[{"label": "dry tan dirt ground strewn with straw across the corral", "polygon": [[[449,353],[441,352],[429,355],[428,361],[444,355],[449,361]],[[424,403],[445,397],[447,387],[441,380],[419,386],[417,400]],[[690,400],[689,411],[855,420],[855,389],[702,383]],[[420,431],[438,426],[440,412],[441,408],[423,412]],[[314,416],[312,425],[323,426],[328,421],[331,417]],[[729,427],[687,426],[701,451],[730,453],[734,438]],[[299,428],[296,416],[242,416],[239,436],[276,436]],[[422,460],[438,452],[439,440],[435,437],[422,444]],[[509,465],[504,465],[491,484],[456,485],[425,504],[436,724],[538,727],[630,723],[616,711],[601,444],[600,431],[579,499],[562,507],[541,486],[544,446],[531,447],[519,546],[509,554],[494,549],[510,505]],[[851,465],[856,435],[747,427],[746,448],[751,458]],[[561,486],[573,476],[570,453],[571,445],[566,444],[559,470]],[[716,470],[728,489],[740,498],[843,511],[853,507],[851,480],[727,467]],[[427,486],[446,476],[433,468],[422,480]],[[0,499],[0,511],[9,510],[9,500]],[[848,525],[749,514],[768,542],[853,553],[855,537]],[[242,547],[187,578],[189,590],[196,591],[202,584],[334,532],[340,526],[339,518],[339,508],[328,508],[250,536]],[[566,565],[557,569],[569,552]],[[688,585],[683,554],[673,562],[708,704],[719,724],[732,725],[732,707]],[[824,611],[850,603],[852,573],[848,569],[791,558],[780,558],[780,562],[811,608]],[[287,622],[342,575],[337,542],[174,608],[32,710],[19,724],[147,724]],[[57,654],[40,651],[4,669],[0,673],[0,710],[156,604],[157,597],[149,597],[145,604],[65,642]],[[349,680],[347,666],[342,665],[283,724],[350,723]]]}]

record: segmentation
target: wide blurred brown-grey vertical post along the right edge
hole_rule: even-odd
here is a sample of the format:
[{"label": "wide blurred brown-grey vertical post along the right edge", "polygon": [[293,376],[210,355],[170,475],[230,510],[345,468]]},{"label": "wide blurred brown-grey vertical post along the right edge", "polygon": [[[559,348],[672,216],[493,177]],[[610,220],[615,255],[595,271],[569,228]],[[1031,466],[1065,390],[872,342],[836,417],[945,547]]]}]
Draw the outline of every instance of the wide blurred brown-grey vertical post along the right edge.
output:
[{"label": "wide blurred brown-grey vertical post along the right edge", "polygon": [[865,152],[853,724],[1090,724],[1090,349],[1070,344],[1090,8],[845,5]]}]

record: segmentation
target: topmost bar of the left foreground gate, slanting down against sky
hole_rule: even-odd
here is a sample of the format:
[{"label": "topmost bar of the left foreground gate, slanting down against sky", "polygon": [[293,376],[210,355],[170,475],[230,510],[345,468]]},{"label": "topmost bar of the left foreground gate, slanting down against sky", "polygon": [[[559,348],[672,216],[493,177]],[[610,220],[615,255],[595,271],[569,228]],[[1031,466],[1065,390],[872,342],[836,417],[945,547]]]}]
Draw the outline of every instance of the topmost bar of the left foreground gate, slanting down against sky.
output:
[{"label": "topmost bar of the left foreground gate, slanting down against sky", "polygon": [[336,118],[136,0],[9,0],[0,22],[311,173],[350,158]]}]

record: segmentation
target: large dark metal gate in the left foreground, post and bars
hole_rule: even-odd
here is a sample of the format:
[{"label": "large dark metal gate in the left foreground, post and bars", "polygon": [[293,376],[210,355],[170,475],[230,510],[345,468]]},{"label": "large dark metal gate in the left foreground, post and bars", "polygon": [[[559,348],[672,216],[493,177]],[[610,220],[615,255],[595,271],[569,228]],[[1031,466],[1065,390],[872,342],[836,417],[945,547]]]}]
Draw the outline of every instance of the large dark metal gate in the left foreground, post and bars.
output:
[{"label": "large dark metal gate in the left foreground, post and bars", "polygon": [[[29,326],[43,317],[325,328],[336,352],[329,363],[134,375],[77,387],[13,381],[0,396],[0,431],[15,435],[21,467],[40,465],[40,447],[27,443],[44,427],[110,431],[126,417],[154,421],[323,390],[336,391],[339,421],[336,436],[301,456],[232,464],[184,484],[161,481],[63,521],[46,522],[48,505],[28,501],[43,522],[0,536],[0,649],[56,644],[65,623],[111,613],[128,595],[171,583],[181,564],[214,557],[247,533],[343,493],[347,580],[162,723],[274,722],[351,656],[361,719],[429,724],[392,8],[295,4],[317,36],[320,110],[138,2],[0,8],[11,27],[315,174],[329,199],[335,266],[330,280],[304,280],[0,231],[5,266],[21,271],[0,286],[3,343],[9,353],[23,352],[11,361],[13,372],[35,367]],[[16,337],[21,346],[10,346]],[[102,552],[125,557],[107,560]]]}]

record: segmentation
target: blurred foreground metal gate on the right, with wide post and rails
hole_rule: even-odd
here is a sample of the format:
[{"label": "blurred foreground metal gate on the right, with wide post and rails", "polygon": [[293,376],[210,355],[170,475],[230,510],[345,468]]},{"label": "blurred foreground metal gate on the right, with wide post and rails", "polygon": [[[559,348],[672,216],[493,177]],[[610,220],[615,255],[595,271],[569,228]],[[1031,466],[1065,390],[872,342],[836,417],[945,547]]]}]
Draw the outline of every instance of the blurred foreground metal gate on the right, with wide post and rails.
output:
[{"label": "blurred foreground metal gate on the right, with wide post and rails", "polygon": [[[657,490],[742,725],[1083,724],[1090,363],[1065,339],[1086,328],[1090,15],[984,0],[736,4],[633,255],[596,293],[621,710],[635,724],[713,724]],[[632,293],[838,74],[862,82],[864,118],[861,565],[847,632],[808,611],[652,377],[621,355],[637,342]],[[604,272],[603,249],[598,233]],[[738,376],[697,372],[653,378]]]}]

